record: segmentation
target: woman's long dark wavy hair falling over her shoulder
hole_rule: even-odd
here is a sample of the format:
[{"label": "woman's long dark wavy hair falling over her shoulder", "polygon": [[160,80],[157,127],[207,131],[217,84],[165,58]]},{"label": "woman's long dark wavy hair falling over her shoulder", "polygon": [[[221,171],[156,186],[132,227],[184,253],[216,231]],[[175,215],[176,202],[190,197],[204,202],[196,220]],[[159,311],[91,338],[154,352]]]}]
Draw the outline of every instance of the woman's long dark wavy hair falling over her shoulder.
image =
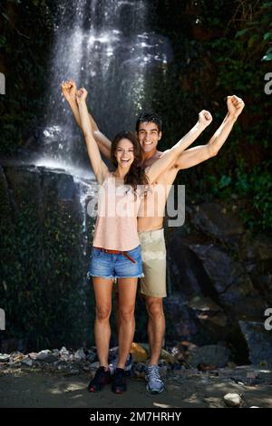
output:
[{"label": "woman's long dark wavy hair falling over her shoulder", "polygon": [[122,139],[131,140],[134,149],[134,160],[131,164],[131,168],[128,173],[125,175],[124,183],[126,185],[131,185],[134,191],[137,189],[137,185],[148,185],[148,179],[145,175],[144,169],[141,166],[141,145],[137,140],[136,136],[131,133],[131,131],[121,131],[118,133],[114,140],[112,141],[111,148],[111,160],[112,164],[117,167],[118,163],[115,157],[115,152],[118,147],[118,143]]}]

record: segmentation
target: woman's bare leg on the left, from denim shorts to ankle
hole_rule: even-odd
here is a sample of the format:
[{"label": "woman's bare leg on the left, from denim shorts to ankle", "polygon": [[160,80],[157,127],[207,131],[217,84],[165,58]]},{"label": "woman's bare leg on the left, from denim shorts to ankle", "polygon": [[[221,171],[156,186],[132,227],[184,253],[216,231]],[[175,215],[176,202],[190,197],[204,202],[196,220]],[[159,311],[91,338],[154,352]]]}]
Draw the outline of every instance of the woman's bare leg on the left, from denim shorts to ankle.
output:
[{"label": "woman's bare leg on the left, from denim shorts to ankle", "polygon": [[112,279],[93,276],[92,283],[96,304],[94,322],[95,344],[100,365],[108,368],[111,338]]}]

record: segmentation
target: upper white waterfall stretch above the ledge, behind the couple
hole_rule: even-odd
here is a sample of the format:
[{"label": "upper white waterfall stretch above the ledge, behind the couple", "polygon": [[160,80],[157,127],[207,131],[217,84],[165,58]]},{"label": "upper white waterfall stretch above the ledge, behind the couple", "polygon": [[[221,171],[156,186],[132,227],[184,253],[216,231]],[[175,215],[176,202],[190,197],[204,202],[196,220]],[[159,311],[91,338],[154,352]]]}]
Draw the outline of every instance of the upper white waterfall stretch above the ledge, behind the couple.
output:
[{"label": "upper white waterfall stretch above the ledge, behind the couple", "polygon": [[[61,165],[87,165],[82,135],[61,82],[84,86],[88,106],[109,138],[134,130],[145,97],[145,74],[168,61],[168,40],[149,32],[146,0],[60,0],[48,85],[43,157]],[[89,163],[88,163],[89,165]]]}]

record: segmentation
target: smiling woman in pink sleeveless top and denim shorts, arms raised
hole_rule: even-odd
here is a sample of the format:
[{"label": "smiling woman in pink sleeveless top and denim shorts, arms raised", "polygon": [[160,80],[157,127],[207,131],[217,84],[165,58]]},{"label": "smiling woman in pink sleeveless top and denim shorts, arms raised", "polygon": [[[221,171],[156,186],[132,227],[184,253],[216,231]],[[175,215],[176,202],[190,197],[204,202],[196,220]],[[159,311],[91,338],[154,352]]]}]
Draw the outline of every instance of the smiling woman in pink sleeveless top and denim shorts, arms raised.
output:
[{"label": "smiling woman in pink sleeveless top and denim shorts, arms raised", "polygon": [[100,367],[89,383],[90,392],[101,391],[111,381],[108,354],[111,336],[112,281],[118,278],[119,288],[119,363],[115,370],[112,391],[126,390],[124,366],[131,349],[135,322],[134,306],[138,277],[142,276],[141,247],[137,234],[137,212],[143,191],[140,186],[152,184],[160,173],[172,164],[180,151],[191,141],[180,140],[175,147],[156,160],[151,167],[141,169],[141,146],[130,132],[123,132],[113,140],[111,173],[102,161],[92,133],[86,106],[87,92],[76,92],[79,119],[86,141],[93,173],[101,185],[98,198],[98,218],[93,238],[89,274],[92,276],[96,317],[95,344]]}]

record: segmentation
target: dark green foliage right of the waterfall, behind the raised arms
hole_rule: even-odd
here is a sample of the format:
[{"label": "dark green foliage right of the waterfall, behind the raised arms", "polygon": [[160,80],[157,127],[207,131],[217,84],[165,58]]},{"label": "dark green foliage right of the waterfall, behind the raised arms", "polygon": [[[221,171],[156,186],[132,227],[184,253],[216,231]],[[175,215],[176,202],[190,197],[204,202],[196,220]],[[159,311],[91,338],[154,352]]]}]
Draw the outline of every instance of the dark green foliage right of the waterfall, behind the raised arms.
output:
[{"label": "dark green foliage right of the waterfall, behind the raised arms", "polygon": [[[227,111],[227,95],[246,107],[217,157],[180,171],[179,183],[199,201],[232,196],[246,200],[241,212],[255,232],[271,229],[271,95],[264,92],[271,72],[272,2],[158,1],[157,31],[170,37],[174,62],[148,76],[148,106],[163,118],[162,149],[169,148],[209,110],[213,123],[195,142],[206,144]],[[163,17],[168,15],[168,19]],[[270,56],[267,56],[267,60]],[[244,185],[244,186],[243,186]]]}]

